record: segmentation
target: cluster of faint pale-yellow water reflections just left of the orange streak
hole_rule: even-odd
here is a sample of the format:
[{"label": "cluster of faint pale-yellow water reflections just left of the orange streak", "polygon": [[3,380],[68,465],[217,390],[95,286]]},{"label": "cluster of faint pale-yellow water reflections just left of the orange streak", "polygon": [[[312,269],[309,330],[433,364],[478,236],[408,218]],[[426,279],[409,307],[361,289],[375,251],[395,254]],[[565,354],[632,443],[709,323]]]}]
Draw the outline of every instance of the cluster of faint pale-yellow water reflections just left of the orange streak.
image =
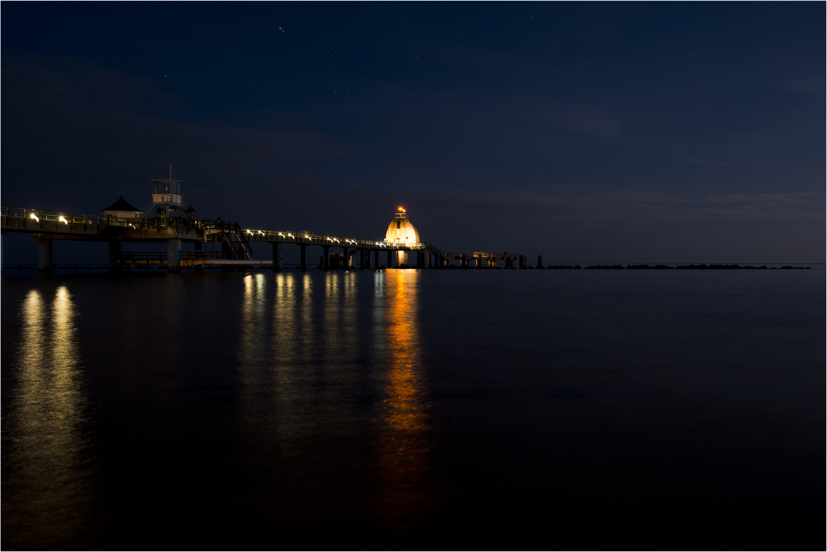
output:
[{"label": "cluster of faint pale-yellow water reflections just left of the orange streak", "polygon": [[[349,369],[359,350],[353,276],[275,274],[246,278],[241,312],[242,440],[265,473],[256,498],[284,516],[337,516],[352,435],[363,425]],[[269,472],[269,473],[267,473]],[[271,487],[268,491],[268,485]],[[270,493],[270,494],[268,494]]]}]

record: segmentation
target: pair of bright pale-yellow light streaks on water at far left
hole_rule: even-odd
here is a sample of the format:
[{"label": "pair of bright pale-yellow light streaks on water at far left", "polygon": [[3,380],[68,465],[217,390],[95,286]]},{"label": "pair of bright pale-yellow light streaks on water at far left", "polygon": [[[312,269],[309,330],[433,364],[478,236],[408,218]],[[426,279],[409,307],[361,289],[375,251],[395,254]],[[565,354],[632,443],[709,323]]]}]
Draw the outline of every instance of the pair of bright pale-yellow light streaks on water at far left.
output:
[{"label": "pair of bright pale-yellow light streaks on water at far left", "polygon": [[88,526],[91,462],[74,302],[33,289],[21,305],[14,396],[3,419],[7,543],[60,545]]}]

